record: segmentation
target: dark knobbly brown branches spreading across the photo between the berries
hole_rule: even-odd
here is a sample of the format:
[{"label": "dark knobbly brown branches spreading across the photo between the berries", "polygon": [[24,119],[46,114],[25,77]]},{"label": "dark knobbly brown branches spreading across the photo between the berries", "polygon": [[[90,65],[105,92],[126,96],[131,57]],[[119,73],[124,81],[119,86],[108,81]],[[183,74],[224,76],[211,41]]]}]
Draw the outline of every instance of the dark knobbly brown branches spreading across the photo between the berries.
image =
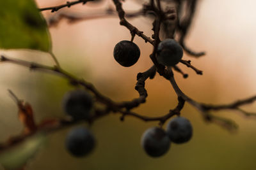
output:
[{"label": "dark knobbly brown branches spreading across the photo between the berries", "polygon": [[[80,0],[80,1],[72,1],[72,2],[68,1],[67,4],[62,4],[60,6],[52,6],[49,8],[40,8],[40,11],[52,10],[52,12],[54,12],[54,11],[60,10],[61,8],[70,7],[74,4],[79,4],[79,3],[84,4],[87,1],[92,1],[92,0]],[[154,16],[155,16],[155,20],[153,23],[153,29],[152,29],[154,31],[154,34],[152,35],[152,39],[151,39],[148,36],[146,36],[145,34],[143,34],[142,31],[138,30],[136,27],[134,27],[134,25],[132,25],[131,23],[129,23],[126,20],[126,18],[129,17],[129,15],[127,15],[127,14],[125,15],[125,11],[122,8],[122,3],[120,2],[120,0],[113,0],[113,3],[115,4],[115,7],[116,7],[116,12],[118,13],[118,17],[120,19],[120,25],[124,25],[125,27],[127,27],[127,29],[129,29],[129,31],[131,32],[131,36],[134,36],[136,34],[137,36],[140,36],[142,39],[144,39],[145,42],[149,42],[150,44],[152,44],[154,46],[154,48],[152,50],[152,54],[150,55],[150,59],[152,59],[152,62],[154,65],[152,67],[150,67],[147,71],[145,71],[143,73],[138,73],[135,89],[138,91],[139,97],[136,99],[132,99],[131,101],[115,102],[115,101],[111,100],[109,97],[106,97],[106,96],[103,96],[102,94],[100,94],[100,92],[91,83],[88,83],[83,79],[77,78],[76,76],[74,76],[74,75],[68,73],[67,71],[65,71],[64,69],[62,69],[60,66],[53,66],[53,67],[45,66],[42,64],[34,63],[34,62],[28,62],[26,60],[12,59],[12,58],[6,57],[4,55],[1,55],[0,62],[10,62],[13,64],[18,64],[20,66],[25,66],[25,67],[28,67],[29,69],[31,69],[31,71],[45,71],[47,73],[58,74],[59,76],[66,78],[72,85],[83,87],[84,89],[92,92],[92,94],[95,96],[95,99],[97,99],[97,102],[104,104],[105,108],[104,109],[95,108],[94,114],[88,120],[89,123],[92,123],[94,120],[97,120],[100,117],[104,117],[104,116],[108,115],[109,113],[119,113],[119,114],[121,114],[121,117],[120,117],[121,120],[124,120],[124,118],[126,116],[130,116],[130,117],[139,118],[145,122],[156,121],[156,122],[159,122],[160,125],[163,125],[164,122],[166,122],[166,120],[173,117],[174,115],[179,116],[180,111],[184,107],[184,104],[188,103],[191,106],[193,106],[194,108],[196,108],[196,110],[198,110],[200,113],[202,113],[203,117],[208,122],[214,122],[216,124],[223,125],[223,127],[226,127],[229,130],[233,130],[237,127],[235,122],[233,122],[232,120],[229,120],[227,118],[216,117],[215,115],[212,115],[212,113],[210,113],[209,111],[236,110],[236,111],[243,113],[246,116],[256,116],[255,113],[250,113],[250,112],[241,110],[241,108],[239,108],[241,106],[244,106],[245,104],[250,104],[250,103],[253,103],[254,101],[256,101],[256,96],[253,96],[253,97],[250,97],[247,99],[243,99],[243,100],[239,100],[239,101],[236,101],[236,102],[230,103],[230,104],[212,105],[212,104],[198,103],[197,101],[191,99],[186,94],[184,94],[184,92],[182,92],[182,90],[180,90],[180,88],[177,85],[175,78],[173,76],[172,68],[175,69],[175,71],[178,71],[179,73],[181,73],[184,76],[184,78],[187,77],[188,74],[183,73],[178,66],[166,68],[157,62],[157,59],[156,59],[157,46],[158,46],[159,42],[161,41],[159,38],[161,22],[166,21],[166,20],[173,20],[175,18],[173,16],[178,16],[179,24],[177,25],[177,27],[176,26],[174,27],[172,25],[172,27],[171,27],[171,29],[169,29],[169,31],[172,32],[173,34],[175,34],[175,31],[180,32],[179,42],[183,46],[183,48],[186,52],[188,52],[191,55],[195,55],[195,56],[200,56],[203,54],[203,53],[192,52],[191,50],[186,48],[186,45],[184,44],[184,39],[186,38],[186,35],[188,34],[188,29],[189,29],[189,26],[191,25],[191,21],[193,19],[194,13],[195,13],[195,7],[196,7],[197,1],[196,0],[193,0],[193,1],[184,0],[184,1],[175,1],[175,2],[177,3],[177,5],[176,5],[177,8],[175,10],[163,11],[163,9],[161,7],[160,0],[156,0],[156,1],[150,0],[149,4],[146,4],[144,6],[143,13],[145,13],[147,11],[151,11],[152,13],[154,13]],[[179,18],[180,13],[182,12],[180,10],[181,9],[180,3],[187,3],[187,6],[188,6],[188,11],[186,11],[186,15],[185,15],[186,18],[184,18],[184,20],[180,20],[180,18]],[[141,11],[140,11],[140,13],[137,13],[136,15],[140,15],[140,14],[141,14]],[[170,16],[170,14],[172,17],[168,17],[168,16]],[[63,16],[64,15],[65,14],[63,14]],[[130,16],[132,17],[135,15],[130,15]],[[67,16],[65,16],[65,17],[68,18]],[[73,20],[74,18],[69,18],[69,19]],[[75,18],[74,20],[76,20],[76,19],[77,18]],[[177,18],[175,18],[175,19],[177,20]],[[173,22],[173,23],[175,23],[175,22]],[[174,37],[174,36],[172,35],[172,37]],[[180,60],[180,62],[188,67],[191,67],[191,69],[193,69],[196,72],[196,74],[202,74],[202,71],[200,69],[197,69],[195,66],[191,65],[190,60]],[[167,114],[160,116],[160,117],[147,117],[147,116],[143,116],[143,115],[140,115],[138,113],[131,111],[133,108],[136,108],[136,107],[140,106],[140,104],[145,103],[146,98],[147,98],[147,90],[145,89],[145,81],[148,78],[153,79],[154,76],[156,75],[156,72],[160,76],[163,76],[166,80],[170,81],[170,83],[178,97],[177,106],[173,110],[170,110]],[[13,93],[11,93],[11,94],[13,97],[15,97],[16,101],[20,101]],[[76,121],[68,119],[68,118],[44,120],[44,121],[40,122],[40,124],[36,125],[36,128],[34,129],[34,131],[31,131],[30,133],[26,133],[26,134],[20,134],[19,136],[10,138],[8,141],[6,141],[4,143],[0,143],[0,153],[6,149],[12,147],[13,145],[20,143],[24,139],[33,135],[35,132],[45,132],[45,133],[54,132],[54,131],[57,131],[58,129],[65,128],[65,127],[68,127],[68,126],[76,124],[76,123],[77,123]]]}]

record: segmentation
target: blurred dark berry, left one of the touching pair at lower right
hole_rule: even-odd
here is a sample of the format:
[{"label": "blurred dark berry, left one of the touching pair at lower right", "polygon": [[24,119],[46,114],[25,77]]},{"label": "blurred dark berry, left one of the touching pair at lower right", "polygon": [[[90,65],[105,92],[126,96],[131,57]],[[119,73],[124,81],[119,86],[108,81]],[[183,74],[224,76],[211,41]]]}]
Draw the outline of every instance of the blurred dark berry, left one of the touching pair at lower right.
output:
[{"label": "blurred dark berry, left one of the touching pair at lower right", "polygon": [[152,127],[144,132],[141,145],[150,157],[160,157],[168,152],[171,143],[163,129]]}]

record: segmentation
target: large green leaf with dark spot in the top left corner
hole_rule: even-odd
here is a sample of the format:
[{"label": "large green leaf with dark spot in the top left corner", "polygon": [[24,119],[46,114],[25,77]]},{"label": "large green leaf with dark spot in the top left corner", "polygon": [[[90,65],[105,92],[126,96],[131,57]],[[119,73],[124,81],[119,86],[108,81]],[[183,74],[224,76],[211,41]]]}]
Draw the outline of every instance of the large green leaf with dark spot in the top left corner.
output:
[{"label": "large green leaf with dark spot in the top left corner", "polygon": [[0,48],[51,50],[47,24],[35,1],[0,1]]}]

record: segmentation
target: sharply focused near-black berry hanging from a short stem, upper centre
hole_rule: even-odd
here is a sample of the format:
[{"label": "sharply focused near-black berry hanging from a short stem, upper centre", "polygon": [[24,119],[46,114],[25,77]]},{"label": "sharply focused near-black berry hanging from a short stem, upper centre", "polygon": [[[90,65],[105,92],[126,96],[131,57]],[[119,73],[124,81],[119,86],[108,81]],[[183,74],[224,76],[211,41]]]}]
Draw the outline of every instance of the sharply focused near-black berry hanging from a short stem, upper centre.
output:
[{"label": "sharply focused near-black berry hanging from a short stem, upper centre", "polygon": [[132,41],[120,41],[116,44],[113,55],[121,66],[130,67],[140,58],[140,48]]}]

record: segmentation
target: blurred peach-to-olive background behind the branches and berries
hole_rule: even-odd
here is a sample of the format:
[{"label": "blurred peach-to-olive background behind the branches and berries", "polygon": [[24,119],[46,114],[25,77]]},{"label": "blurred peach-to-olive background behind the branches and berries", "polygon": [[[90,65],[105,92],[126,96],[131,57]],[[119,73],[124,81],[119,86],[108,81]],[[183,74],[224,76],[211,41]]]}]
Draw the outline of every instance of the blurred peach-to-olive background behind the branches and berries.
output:
[{"label": "blurred peach-to-olive background behind the branches and berries", "polygon": [[[65,1],[37,0],[40,8]],[[90,13],[111,1],[88,3],[68,8],[69,11]],[[124,9],[140,9],[138,1],[125,1]],[[256,94],[256,2],[253,0],[201,0],[198,3],[188,39],[189,47],[205,51],[204,57],[192,61],[204,71],[202,76],[179,64],[189,74],[187,79],[175,73],[180,89],[196,101],[224,104]],[[65,9],[67,10],[67,9]],[[51,16],[45,11],[44,16]],[[151,36],[152,20],[138,17],[129,20],[147,36]],[[84,20],[68,24],[62,20],[51,27],[52,48],[61,66],[68,72],[92,82],[105,96],[114,101],[131,100],[138,96],[134,85],[136,74],[152,66],[149,55],[152,45],[138,36],[134,42],[140,46],[141,57],[132,67],[122,67],[113,58],[113,48],[119,41],[131,39],[130,32],[119,25],[117,17]],[[34,51],[4,51],[4,53],[43,64],[54,64],[49,54]],[[8,96],[12,89],[21,99],[31,103],[36,122],[44,118],[63,117],[61,99],[73,89],[59,76],[29,71],[13,64],[0,67],[0,139],[5,141],[22,131],[17,107]],[[177,104],[177,96],[170,83],[158,74],[146,81],[147,103],[134,111],[141,115],[159,116]],[[244,107],[256,111],[256,104]],[[49,135],[47,145],[29,161],[27,169],[256,169],[256,119],[246,118],[236,111],[219,111],[214,114],[232,118],[239,125],[230,133],[215,124],[204,122],[195,108],[186,104],[182,116],[193,125],[193,138],[186,144],[172,144],[163,157],[152,159],[140,145],[141,135],[157,122],[145,123],[133,117],[120,122],[120,115],[109,115],[95,121],[90,129],[97,138],[97,147],[88,157],[77,159],[67,153],[65,136],[70,129]],[[1,168],[0,168],[1,169]]]}]

